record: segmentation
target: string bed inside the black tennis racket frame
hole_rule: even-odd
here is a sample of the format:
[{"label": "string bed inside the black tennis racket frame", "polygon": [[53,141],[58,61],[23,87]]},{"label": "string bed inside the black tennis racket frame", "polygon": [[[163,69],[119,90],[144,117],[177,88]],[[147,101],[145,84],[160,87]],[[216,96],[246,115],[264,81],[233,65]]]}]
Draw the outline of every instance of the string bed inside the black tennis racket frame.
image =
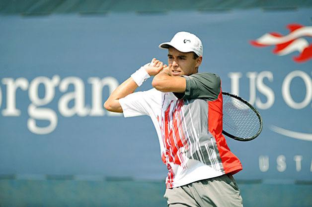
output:
[{"label": "string bed inside the black tennis racket frame", "polygon": [[240,138],[253,137],[260,129],[256,113],[243,102],[223,96],[223,130]]}]

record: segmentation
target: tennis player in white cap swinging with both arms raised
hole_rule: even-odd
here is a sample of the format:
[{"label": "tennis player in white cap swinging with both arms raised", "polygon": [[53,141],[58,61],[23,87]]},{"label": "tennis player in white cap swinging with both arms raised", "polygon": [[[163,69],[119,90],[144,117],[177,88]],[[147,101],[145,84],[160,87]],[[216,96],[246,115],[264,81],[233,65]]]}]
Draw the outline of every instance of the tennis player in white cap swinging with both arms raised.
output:
[{"label": "tennis player in white cap swinging with both arms raised", "polygon": [[[104,107],[125,117],[149,115],[166,164],[169,207],[242,207],[233,174],[242,169],[222,135],[220,77],[198,73],[203,46],[198,37],[178,32],[170,42],[168,66],[153,58],[107,99]],[[149,91],[134,91],[154,76]]]}]

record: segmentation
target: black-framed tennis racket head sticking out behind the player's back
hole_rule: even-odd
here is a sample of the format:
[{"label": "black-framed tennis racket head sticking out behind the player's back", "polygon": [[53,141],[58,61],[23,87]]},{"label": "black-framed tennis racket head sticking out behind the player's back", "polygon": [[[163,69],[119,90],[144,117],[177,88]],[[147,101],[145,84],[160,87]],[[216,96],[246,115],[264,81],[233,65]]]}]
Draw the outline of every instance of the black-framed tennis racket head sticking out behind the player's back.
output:
[{"label": "black-framed tennis racket head sticking out behind the player's back", "polygon": [[223,131],[234,140],[250,141],[262,131],[262,118],[255,107],[239,96],[222,92]]}]

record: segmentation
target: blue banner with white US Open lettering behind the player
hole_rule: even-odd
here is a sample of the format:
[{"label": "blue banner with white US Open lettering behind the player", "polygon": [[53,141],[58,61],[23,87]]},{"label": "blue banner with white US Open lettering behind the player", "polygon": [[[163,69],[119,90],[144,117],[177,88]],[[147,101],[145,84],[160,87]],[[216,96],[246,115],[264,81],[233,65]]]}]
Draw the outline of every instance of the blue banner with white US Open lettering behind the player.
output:
[{"label": "blue banner with white US Open lettering behind the player", "polygon": [[[203,43],[200,72],[257,109],[263,131],[227,139],[238,179],[312,180],[309,9],[161,15],[0,17],[0,174],[164,179],[149,117],[103,108],[109,94],[178,31]],[[148,80],[138,90],[152,88]]]}]

